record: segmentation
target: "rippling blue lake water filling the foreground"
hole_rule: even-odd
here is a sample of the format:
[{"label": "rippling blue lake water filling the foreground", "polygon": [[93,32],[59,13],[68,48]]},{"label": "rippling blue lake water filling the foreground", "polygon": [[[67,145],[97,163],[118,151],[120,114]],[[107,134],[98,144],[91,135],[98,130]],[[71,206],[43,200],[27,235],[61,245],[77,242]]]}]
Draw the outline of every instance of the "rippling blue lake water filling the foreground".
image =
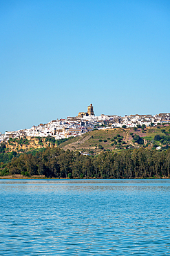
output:
[{"label": "rippling blue lake water filling the foreground", "polygon": [[170,180],[0,180],[0,255],[170,255]]}]

